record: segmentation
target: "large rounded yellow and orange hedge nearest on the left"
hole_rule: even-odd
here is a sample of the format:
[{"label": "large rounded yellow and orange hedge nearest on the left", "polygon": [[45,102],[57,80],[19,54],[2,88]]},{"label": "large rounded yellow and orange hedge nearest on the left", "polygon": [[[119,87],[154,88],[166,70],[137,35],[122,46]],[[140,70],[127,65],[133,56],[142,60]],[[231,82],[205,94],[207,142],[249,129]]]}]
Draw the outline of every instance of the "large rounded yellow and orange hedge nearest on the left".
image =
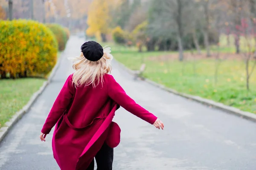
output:
[{"label": "large rounded yellow and orange hedge nearest on the left", "polygon": [[44,24],[32,20],[0,21],[0,75],[45,76],[57,60],[58,44]]}]

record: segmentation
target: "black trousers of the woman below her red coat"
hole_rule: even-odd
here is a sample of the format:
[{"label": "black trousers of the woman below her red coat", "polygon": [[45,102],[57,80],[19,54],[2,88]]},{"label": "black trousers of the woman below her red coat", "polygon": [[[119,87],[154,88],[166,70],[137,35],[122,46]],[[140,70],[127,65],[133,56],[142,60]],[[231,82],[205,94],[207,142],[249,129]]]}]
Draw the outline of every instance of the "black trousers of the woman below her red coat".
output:
[{"label": "black trousers of the woman below her red coat", "polygon": [[[95,156],[97,170],[112,170],[114,150],[107,144],[103,144],[102,148]],[[94,160],[90,163],[87,170],[94,170]]]}]

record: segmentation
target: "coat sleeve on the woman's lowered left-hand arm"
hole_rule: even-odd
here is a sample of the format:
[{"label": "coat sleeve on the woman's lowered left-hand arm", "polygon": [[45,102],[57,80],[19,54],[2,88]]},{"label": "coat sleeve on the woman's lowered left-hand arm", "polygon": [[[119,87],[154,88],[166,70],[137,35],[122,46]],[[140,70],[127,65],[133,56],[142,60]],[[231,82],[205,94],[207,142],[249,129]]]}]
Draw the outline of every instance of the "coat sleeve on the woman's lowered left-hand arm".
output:
[{"label": "coat sleeve on the woman's lowered left-hand arm", "polygon": [[52,130],[52,127],[58,122],[61,115],[70,105],[70,102],[73,98],[74,87],[72,86],[72,75],[70,75],[64,86],[62,87],[60,93],[58,94],[51,111],[44,123],[44,126],[41,130],[42,133],[48,134]]}]

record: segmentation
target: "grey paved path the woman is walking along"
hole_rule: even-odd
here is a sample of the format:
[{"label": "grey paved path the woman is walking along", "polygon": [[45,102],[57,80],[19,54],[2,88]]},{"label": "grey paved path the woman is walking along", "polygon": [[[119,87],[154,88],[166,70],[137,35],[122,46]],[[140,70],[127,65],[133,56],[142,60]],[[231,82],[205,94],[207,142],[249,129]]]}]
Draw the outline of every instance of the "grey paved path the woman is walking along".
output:
[{"label": "grey paved path the woman is walking along", "polygon": [[[67,76],[67,57],[79,55],[83,40],[71,37],[53,82],[0,144],[0,170],[58,170],[47,142],[38,138],[47,114]],[[113,76],[140,105],[165,123],[157,130],[124,109],[121,144],[113,170],[256,170],[256,123],[155,88],[113,62]],[[51,133],[52,134],[52,133]]]}]

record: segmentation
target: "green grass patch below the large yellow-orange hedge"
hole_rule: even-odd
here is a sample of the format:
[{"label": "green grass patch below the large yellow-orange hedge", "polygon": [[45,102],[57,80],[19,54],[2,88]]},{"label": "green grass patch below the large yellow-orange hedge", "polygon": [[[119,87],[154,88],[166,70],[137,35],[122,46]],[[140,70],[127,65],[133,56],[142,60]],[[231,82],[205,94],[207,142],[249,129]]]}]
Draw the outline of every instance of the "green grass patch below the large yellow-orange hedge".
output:
[{"label": "green grass patch below the large yellow-orange hedge", "polygon": [[33,78],[0,80],[0,127],[29,102],[45,81]]}]

